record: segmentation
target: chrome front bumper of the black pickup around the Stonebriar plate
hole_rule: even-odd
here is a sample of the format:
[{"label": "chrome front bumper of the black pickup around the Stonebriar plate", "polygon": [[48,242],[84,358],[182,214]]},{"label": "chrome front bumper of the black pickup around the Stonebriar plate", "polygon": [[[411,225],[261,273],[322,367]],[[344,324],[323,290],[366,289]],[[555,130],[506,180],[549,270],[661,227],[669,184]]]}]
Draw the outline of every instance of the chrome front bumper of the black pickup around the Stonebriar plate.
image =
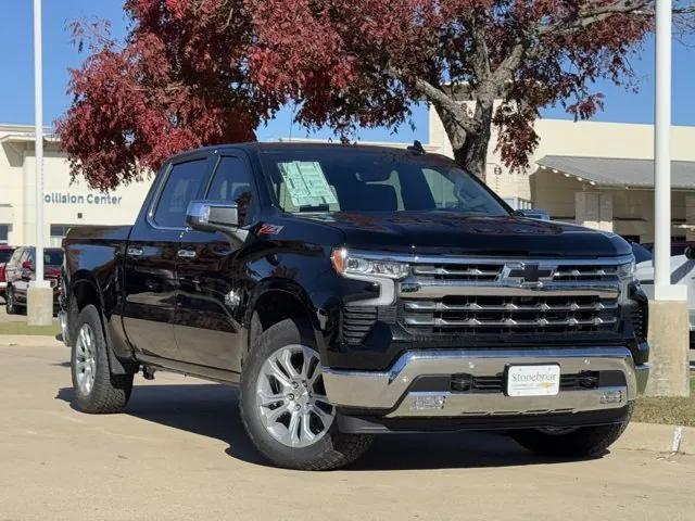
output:
[{"label": "chrome front bumper of the black pickup around the Stonebriar plate", "polygon": [[[493,377],[514,364],[559,364],[563,374],[621,371],[624,386],[560,391],[556,396],[509,397],[502,392],[410,392],[419,376],[468,373]],[[330,402],[338,407],[388,410],[387,418],[547,415],[624,407],[646,386],[649,369],[636,366],[628,348],[456,350],[405,353],[383,372],[324,369]],[[438,407],[416,403],[431,398]]]}]

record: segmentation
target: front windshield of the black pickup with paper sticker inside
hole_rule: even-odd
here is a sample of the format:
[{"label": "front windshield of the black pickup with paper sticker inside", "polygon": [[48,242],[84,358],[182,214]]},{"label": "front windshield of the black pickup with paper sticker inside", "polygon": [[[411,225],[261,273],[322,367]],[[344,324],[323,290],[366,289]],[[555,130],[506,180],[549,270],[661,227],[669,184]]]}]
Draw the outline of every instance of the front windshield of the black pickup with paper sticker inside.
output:
[{"label": "front windshield of the black pickup with paper sticker inside", "polygon": [[472,175],[434,155],[345,147],[262,153],[285,212],[459,212],[509,215]]}]

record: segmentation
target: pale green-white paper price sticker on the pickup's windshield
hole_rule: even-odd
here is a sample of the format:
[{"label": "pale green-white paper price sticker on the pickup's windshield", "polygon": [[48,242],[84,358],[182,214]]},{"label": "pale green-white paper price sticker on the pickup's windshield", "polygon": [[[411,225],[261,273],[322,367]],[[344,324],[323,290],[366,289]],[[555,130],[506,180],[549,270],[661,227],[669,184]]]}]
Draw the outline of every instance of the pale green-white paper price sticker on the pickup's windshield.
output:
[{"label": "pale green-white paper price sticker on the pickup's windshield", "polygon": [[338,203],[318,162],[292,161],[280,163],[278,166],[294,206],[326,206]]}]

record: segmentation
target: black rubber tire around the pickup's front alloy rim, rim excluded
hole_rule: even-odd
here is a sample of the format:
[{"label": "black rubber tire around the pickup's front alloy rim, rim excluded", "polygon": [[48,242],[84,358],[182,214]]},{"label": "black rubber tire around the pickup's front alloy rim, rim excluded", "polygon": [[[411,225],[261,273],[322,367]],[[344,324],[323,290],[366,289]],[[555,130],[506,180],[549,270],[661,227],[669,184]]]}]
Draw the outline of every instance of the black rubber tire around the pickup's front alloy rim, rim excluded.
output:
[{"label": "black rubber tire around the pickup's front alloy rim, rim excluded", "polygon": [[293,344],[318,351],[311,333],[292,320],[279,322],[258,336],[242,368],[239,406],[249,437],[266,458],[281,467],[305,468],[333,452],[333,436],[339,434],[338,421],[334,420],[328,432],[313,445],[288,447],[267,432],[257,411],[255,395],[261,368],[267,357],[280,347]]}]

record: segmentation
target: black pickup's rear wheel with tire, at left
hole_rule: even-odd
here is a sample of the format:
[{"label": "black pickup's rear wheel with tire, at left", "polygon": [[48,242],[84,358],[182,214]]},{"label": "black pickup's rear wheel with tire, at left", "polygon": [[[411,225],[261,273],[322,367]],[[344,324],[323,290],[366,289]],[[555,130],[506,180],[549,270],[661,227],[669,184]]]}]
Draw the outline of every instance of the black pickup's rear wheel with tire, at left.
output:
[{"label": "black pickup's rear wheel with tire, at left", "polygon": [[71,339],[74,404],[83,412],[121,412],[132,392],[132,374],[112,374],[101,316],[92,305],[77,317]]}]

